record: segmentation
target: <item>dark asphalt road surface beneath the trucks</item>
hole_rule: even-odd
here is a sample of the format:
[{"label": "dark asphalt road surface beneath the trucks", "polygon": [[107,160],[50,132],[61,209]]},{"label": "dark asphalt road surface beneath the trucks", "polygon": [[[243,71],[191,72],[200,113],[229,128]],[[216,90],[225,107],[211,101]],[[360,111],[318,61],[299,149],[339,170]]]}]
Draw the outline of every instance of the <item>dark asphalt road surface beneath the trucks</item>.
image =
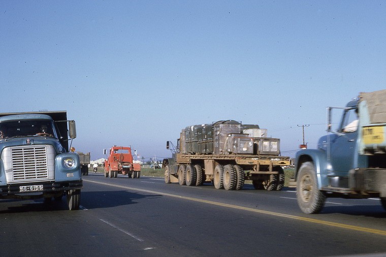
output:
[{"label": "dark asphalt road surface beneath the trucks", "polygon": [[296,192],[216,190],[162,178],[84,176],[81,210],[66,199],[0,200],[3,256],[386,255],[378,199],[328,199],[303,214]]}]

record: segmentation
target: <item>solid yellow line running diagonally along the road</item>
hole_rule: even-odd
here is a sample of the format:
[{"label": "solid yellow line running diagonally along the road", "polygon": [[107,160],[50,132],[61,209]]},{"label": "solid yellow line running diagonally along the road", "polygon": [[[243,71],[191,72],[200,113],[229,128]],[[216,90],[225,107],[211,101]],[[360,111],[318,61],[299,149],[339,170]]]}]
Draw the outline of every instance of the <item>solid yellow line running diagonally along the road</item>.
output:
[{"label": "solid yellow line running diagonally along the road", "polygon": [[342,224],[342,223],[336,223],[336,222],[331,222],[331,221],[324,221],[324,220],[318,220],[318,219],[313,219],[313,218],[300,217],[300,216],[289,215],[289,214],[284,214],[284,213],[279,213],[279,212],[252,209],[252,208],[242,207],[242,206],[237,206],[237,205],[232,205],[232,204],[223,204],[223,203],[218,203],[218,202],[213,202],[213,201],[208,201],[208,200],[202,200],[202,199],[198,199],[198,198],[183,197],[183,196],[168,194],[165,192],[152,191],[152,190],[135,188],[135,187],[130,187],[130,186],[122,186],[122,185],[110,184],[110,183],[105,183],[105,182],[91,181],[91,180],[86,180],[86,179],[83,179],[83,181],[87,181],[87,182],[91,182],[91,183],[95,183],[95,184],[115,186],[115,187],[119,187],[119,188],[123,188],[123,189],[131,189],[131,190],[136,190],[136,191],[148,192],[148,193],[156,194],[156,195],[175,197],[175,198],[185,199],[185,200],[189,200],[189,201],[195,201],[195,202],[206,203],[206,204],[211,204],[211,205],[216,205],[216,206],[228,207],[228,208],[232,208],[232,209],[251,211],[251,212],[255,212],[255,213],[262,213],[262,214],[267,214],[267,215],[271,215],[271,216],[302,220],[302,221],[307,221],[307,222],[312,222],[312,223],[317,223],[317,224],[323,224],[326,226],[331,226],[331,227],[336,227],[336,228],[355,230],[355,231],[360,231],[360,232],[367,232],[367,233],[386,236],[386,231],[384,231],[384,230],[375,230],[375,229],[351,226],[351,225]]}]

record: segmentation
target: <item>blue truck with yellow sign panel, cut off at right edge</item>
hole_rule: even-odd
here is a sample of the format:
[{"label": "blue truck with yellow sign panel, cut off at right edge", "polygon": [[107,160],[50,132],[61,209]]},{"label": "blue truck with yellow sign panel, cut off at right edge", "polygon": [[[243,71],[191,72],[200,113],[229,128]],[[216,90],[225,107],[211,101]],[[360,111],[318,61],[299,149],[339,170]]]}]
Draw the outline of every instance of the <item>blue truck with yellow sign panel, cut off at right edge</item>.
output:
[{"label": "blue truck with yellow sign panel, cut off at right edge", "polygon": [[[343,111],[336,124],[335,109]],[[317,149],[296,154],[293,182],[300,209],[318,213],[330,197],[379,198],[386,209],[386,90],[362,92],[327,112],[330,133]]]}]

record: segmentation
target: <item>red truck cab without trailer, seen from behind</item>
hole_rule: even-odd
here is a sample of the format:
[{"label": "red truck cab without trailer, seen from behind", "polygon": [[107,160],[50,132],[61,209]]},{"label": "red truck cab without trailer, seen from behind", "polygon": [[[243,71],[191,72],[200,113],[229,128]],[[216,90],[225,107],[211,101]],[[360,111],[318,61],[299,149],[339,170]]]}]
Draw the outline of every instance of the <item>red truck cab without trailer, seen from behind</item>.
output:
[{"label": "red truck cab without trailer, seen from behind", "polygon": [[129,178],[140,178],[141,164],[133,161],[131,147],[114,145],[110,148],[109,156],[105,160],[105,177],[116,178],[118,173],[127,174]]}]

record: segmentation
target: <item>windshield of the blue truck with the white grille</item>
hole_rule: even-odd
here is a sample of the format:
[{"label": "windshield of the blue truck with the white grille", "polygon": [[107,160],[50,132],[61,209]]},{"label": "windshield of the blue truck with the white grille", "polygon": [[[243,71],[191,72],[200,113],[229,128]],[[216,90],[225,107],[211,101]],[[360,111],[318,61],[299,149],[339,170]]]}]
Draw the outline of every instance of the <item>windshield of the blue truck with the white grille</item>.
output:
[{"label": "windshield of the blue truck with the white grille", "polygon": [[9,120],[0,122],[0,139],[25,136],[57,138],[51,120]]}]

